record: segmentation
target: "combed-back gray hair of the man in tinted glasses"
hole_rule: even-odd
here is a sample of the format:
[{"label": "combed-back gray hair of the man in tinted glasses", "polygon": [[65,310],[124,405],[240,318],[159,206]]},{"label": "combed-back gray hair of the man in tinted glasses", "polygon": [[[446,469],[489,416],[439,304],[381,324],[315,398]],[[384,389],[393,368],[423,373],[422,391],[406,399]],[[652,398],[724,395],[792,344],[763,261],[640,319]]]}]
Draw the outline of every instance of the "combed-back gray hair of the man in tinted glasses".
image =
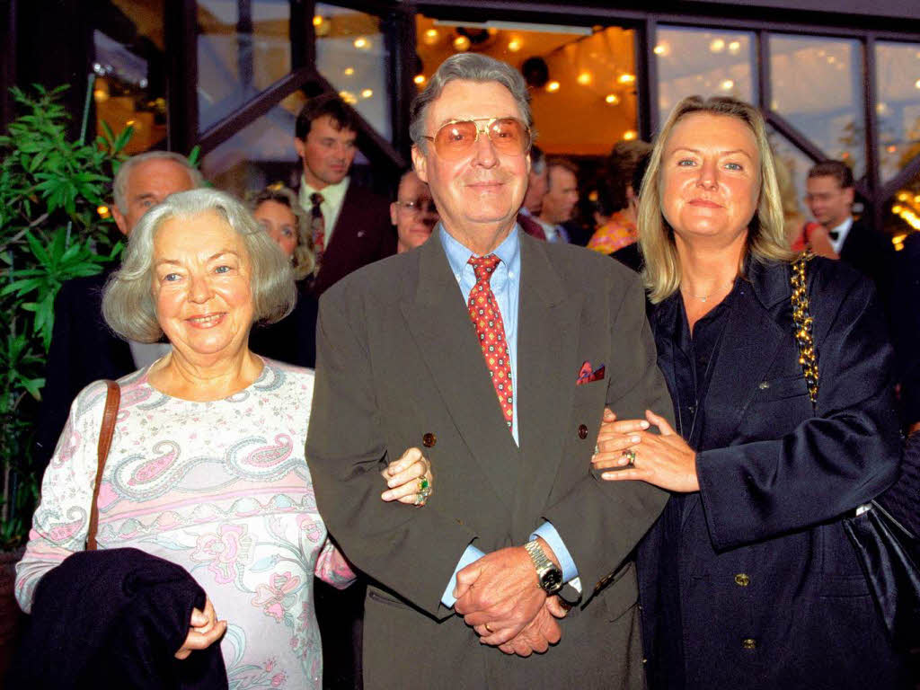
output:
[{"label": "combed-back gray hair of the man in tinted glasses", "polygon": [[[431,103],[441,96],[444,86],[456,79],[471,82],[498,82],[511,91],[518,110],[521,112],[521,119],[528,128],[533,129],[530,92],[527,91],[527,85],[521,73],[510,64],[502,63],[487,55],[480,55],[476,52],[459,52],[441,63],[438,71],[428,81],[428,86],[425,86],[425,89],[412,101],[408,134],[412,143],[419,146],[422,151],[425,151],[426,140],[423,136],[428,109]],[[533,133],[531,139],[533,139]]]}]

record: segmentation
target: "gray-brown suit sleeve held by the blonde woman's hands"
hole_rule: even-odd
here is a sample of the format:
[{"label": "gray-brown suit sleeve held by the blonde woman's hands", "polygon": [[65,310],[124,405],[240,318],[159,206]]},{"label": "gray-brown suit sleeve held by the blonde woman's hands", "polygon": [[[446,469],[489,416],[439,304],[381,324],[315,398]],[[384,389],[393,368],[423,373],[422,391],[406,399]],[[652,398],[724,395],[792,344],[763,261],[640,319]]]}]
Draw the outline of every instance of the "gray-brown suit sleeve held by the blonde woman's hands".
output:
[{"label": "gray-brown suit sleeve held by the blonde woman's hands", "polygon": [[[626,276],[627,270],[615,275]],[[610,297],[607,406],[621,420],[644,419],[645,410],[651,409],[673,423],[671,397],[656,363],[654,339],[645,316],[645,295],[637,276],[630,273],[627,280],[627,288],[617,291],[619,299],[616,292]],[[544,517],[569,549],[583,588],[590,590],[603,586],[603,581],[627,561],[658,518],[668,494],[644,482],[604,481],[588,457],[568,460],[582,461],[584,477],[550,506]],[[590,595],[584,597],[585,603],[588,599]]]}]

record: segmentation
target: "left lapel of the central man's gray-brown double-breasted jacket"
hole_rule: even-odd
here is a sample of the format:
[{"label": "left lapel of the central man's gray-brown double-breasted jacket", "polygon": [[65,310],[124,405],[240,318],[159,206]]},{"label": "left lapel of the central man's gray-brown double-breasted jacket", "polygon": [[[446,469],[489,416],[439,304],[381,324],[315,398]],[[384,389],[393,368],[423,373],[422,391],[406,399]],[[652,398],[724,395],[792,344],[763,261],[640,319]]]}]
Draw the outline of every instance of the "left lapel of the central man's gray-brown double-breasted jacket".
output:
[{"label": "left lapel of the central man's gray-brown double-breasted jacket", "polygon": [[420,247],[419,281],[414,293],[405,295],[402,312],[447,412],[489,478],[489,488],[511,507],[518,449],[437,233]]}]

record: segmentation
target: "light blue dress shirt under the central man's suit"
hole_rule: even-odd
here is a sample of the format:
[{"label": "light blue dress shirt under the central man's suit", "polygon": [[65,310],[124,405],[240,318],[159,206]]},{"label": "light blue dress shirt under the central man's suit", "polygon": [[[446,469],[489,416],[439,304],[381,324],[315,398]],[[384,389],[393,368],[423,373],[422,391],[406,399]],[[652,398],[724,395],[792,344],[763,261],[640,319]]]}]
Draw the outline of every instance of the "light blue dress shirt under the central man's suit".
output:
[{"label": "light blue dress shirt under the central man's suit", "polygon": [[[492,271],[489,279],[489,286],[495,295],[495,301],[499,305],[501,312],[501,321],[505,327],[505,341],[508,343],[508,354],[511,360],[512,369],[512,399],[513,399],[513,416],[512,416],[512,436],[514,443],[518,443],[518,419],[517,419],[517,326],[518,326],[518,304],[521,294],[521,240],[518,235],[517,225],[509,236],[492,252],[500,259],[499,265]],[[469,258],[473,252],[457,242],[454,237],[450,236],[442,224],[438,224],[438,234],[441,237],[441,244],[444,247],[444,253],[447,255],[447,262],[450,264],[454,273],[457,284],[460,285],[460,291],[463,293],[464,302],[469,302],[469,293],[472,292],[476,285],[476,271],[469,265]],[[578,577],[578,569],[575,568],[575,561],[569,554],[559,536],[556,528],[551,523],[541,524],[530,535],[531,539],[537,536],[543,537],[546,544],[553,549],[556,558],[559,560],[559,566],[562,569],[563,581],[571,581]],[[456,586],[457,573],[466,568],[470,563],[482,558],[485,554],[476,546],[470,544],[460,557],[451,580],[447,583],[447,589],[444,590],[441,603],[447,607],[453,606],[454,587]]]}]

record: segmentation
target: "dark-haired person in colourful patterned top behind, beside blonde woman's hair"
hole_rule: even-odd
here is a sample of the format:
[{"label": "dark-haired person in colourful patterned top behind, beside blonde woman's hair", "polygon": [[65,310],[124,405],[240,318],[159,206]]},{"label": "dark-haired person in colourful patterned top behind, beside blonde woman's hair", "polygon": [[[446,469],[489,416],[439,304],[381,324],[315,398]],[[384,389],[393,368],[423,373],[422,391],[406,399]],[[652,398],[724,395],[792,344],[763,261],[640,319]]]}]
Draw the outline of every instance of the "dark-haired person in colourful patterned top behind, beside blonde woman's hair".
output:
[{"label": "dark-haired person in colourful patterned top behind, beside blonde woman's hair", "polygon": [[614,213],[594,231],[588,240],[589,249],[609,255],[636,242],[638,189],[633,188],[633,173],[638,162],[650,151],[651,144],[639,140],[614,145],[607,160],[606,185],[598,190],[599,195],[605,191],[609,196],[601,205],[613,209]]}]

